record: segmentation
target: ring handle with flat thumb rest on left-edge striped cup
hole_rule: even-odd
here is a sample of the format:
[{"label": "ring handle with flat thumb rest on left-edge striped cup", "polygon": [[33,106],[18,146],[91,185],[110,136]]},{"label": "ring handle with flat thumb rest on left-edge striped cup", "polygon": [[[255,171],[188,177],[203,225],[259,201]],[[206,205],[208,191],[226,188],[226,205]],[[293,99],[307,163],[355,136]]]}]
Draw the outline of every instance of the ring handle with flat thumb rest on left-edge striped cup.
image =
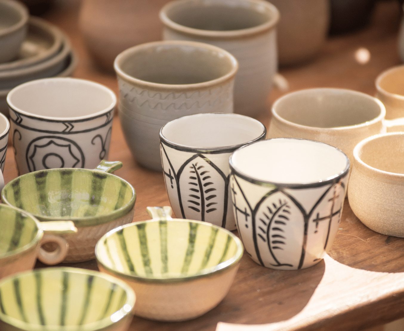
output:
[{"label": "ring handle with flat thumb rest on left-edge striped cup", "polygon": [[[66,239],[60,235],[77,233],[77,228],[72,221],[53,221],[41,222],[44,236],[41,240],[41,248],[38,253],[38,260],[44,264],[55,265],[63,262],[69,251],[69,244]],[[57,248],[53,252],[48,252],[42,246],[44,244],[53,243]]]}]

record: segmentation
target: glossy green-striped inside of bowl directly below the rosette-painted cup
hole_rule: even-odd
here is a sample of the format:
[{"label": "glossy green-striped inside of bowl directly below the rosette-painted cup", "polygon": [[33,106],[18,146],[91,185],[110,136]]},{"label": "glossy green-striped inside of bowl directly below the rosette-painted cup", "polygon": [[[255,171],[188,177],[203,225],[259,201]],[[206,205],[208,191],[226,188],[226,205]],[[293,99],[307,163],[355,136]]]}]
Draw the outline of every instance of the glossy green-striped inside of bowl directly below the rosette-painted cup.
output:
[{"label": "glossy green-striped inside of bowl directly below the rosette-painted cup", "polygon": [[27,173],[8,183],[4,202],[41,219],[97,218],[126,208],[135,191],[117,176],[86,169]]}]

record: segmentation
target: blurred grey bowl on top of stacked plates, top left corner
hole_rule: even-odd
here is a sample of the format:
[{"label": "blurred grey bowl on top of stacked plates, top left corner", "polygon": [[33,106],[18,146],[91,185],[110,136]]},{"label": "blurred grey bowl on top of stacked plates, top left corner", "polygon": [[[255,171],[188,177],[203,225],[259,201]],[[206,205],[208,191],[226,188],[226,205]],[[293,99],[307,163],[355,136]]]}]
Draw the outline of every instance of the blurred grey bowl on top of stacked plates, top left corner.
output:
[{"label": "blurred grey bowl on top of stacked plates, top left corner", "polygon": [[13,60],[27,33],[28,9],[15,0],[0,0],[0,63]]}]

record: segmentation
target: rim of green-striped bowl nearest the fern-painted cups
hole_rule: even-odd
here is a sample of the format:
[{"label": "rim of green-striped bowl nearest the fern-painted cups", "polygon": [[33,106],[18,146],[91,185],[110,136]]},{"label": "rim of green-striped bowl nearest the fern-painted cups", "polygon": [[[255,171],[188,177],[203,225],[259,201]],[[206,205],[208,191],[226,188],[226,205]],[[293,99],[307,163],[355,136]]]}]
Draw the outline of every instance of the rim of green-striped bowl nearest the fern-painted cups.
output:
[{"label": "rim of green-striped bowl nearest the fern-painted cups", "polygon": [[[237,250],[236,253],[229,258],[228,260],[225,260],[219,264],[216,264],[215,266],[211,268],[205,268],[202,269],[202,271],[199,271],[198,273],[195,273],[194,275],[183,275],[183,276],[177,276],[177,277],[147,277],[147,276],[139,276],[139,275],[134,275],[130,273],[123,273],[118,270],[112,269],[109,266],[105,265],[103,260],[101,259],[101,254],[99,253],[100,246],[103,244],[105,239],[116,233],[117,231],[120,231],[126,227],[137,227],[138,225],[145,224],[145,223],[156,223],[156,222],[161,222],[161,221],[166,221],[166,222],[181,222],[181,223],[197,223],[200,225],[204,225],[207,227],[214,227],[216,229],[219,229],[219,231],[224,231],[229,235],[235,242]],[[244,246],[241,242],[241,240],[231,233],[229,230],[224,229],[223,227],[219,227],[215,224],[208,223],[208,222],[202,222],[202,221],[196,221],[196,220],[191,220],[191,219],[170,219],[170,218],[160,218],[160,219],[150,219],[147,221],[138,221],[134,223],[128,223],[125,225],[121,225],[120,227],[117,227],[115,229],[112,229],[111,231],[108,231],[103,235],[98,241],[97,244],[95,245],[95,257],[97,259],[97,263],[101,264],[101,266],[107,270],[108,272],[112,273],[115,277],[122,277],[124,279],[128,280],[135,280],[139,281],[142,283],[157,283],[157,284],[165,284],[165,283],[177,283],[177,282],[185,282],[185,281],[192,281],[196,279],[201,279],[204,277],[210,277],[214,274],[223,272],[227,269],[230,269],[231,267],[236,266],[242,256],[244,254]]]}]

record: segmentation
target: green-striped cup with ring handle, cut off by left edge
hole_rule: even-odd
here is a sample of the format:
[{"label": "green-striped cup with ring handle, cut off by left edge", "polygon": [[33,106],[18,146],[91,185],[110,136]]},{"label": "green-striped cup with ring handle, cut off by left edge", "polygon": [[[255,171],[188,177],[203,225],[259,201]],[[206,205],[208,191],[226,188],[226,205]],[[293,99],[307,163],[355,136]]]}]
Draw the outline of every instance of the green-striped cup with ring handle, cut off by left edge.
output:
[{"label": "green-striped cup with ring handle, cut off by left edge", "polygon": [[[0,214],[0,279],[31,270],[37,258],[50,265],[62,262],[69,246],[57,234],[77,232],[72,221],[40,223],[23,210],[5,204],[0,204]],[[53,243],[57,249],[47,252],[41,248],[46,243]]]}]

